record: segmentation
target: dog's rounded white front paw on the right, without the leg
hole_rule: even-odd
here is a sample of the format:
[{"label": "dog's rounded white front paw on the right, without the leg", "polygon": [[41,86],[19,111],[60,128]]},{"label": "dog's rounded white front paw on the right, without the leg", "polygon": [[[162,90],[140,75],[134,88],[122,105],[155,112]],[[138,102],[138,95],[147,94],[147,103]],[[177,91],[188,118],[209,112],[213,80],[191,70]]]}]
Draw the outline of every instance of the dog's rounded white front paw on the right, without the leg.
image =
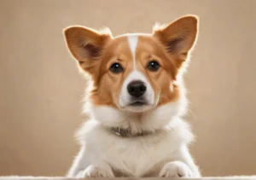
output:
[{"label": "dog's rounded white front paw on the right, without the leg", "polygon": [[160,177],[192,177],[189,166],[181,161],[167,163],[160,171]]}]

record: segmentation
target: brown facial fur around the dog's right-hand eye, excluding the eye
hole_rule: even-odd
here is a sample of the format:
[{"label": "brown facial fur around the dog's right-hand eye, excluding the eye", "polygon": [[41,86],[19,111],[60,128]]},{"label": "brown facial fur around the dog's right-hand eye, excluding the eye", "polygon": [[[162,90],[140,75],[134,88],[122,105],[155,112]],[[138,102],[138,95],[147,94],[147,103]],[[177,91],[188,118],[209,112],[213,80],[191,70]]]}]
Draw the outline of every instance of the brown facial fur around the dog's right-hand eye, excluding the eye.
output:
[{"label": "brown facial fur around the dog's right-hand eye, excluding the eye", "polygon": [[[178,89],[172,88],[172,82],[177,74],[175,59],[166,53],[162,44],[151,36],[140,36],[136,52],[137,70],[143,73],[154,89],[155,96],[160,96],[158,105],[177,99]],[[149,61],[158,61],[160,69],[157,72],[148,70]]]}]

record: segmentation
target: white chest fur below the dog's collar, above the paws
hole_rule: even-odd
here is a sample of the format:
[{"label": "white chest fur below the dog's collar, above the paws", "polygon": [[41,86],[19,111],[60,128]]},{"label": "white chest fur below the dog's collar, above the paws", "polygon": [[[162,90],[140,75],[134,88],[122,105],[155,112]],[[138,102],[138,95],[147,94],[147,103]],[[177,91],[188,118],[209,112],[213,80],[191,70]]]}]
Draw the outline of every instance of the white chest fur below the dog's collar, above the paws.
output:
[{"label": "white chest fur below the dog's collar, above the paws", "polygon": [[175,159],[178,149],[193,138],[188,125],[180,119],[173,119],[163,131],[139,137],[117,136],[90,120],[84,125],[81,137],[85,166],[103,161],[113,171],[132,177],[143,177],[160,162]]}]

